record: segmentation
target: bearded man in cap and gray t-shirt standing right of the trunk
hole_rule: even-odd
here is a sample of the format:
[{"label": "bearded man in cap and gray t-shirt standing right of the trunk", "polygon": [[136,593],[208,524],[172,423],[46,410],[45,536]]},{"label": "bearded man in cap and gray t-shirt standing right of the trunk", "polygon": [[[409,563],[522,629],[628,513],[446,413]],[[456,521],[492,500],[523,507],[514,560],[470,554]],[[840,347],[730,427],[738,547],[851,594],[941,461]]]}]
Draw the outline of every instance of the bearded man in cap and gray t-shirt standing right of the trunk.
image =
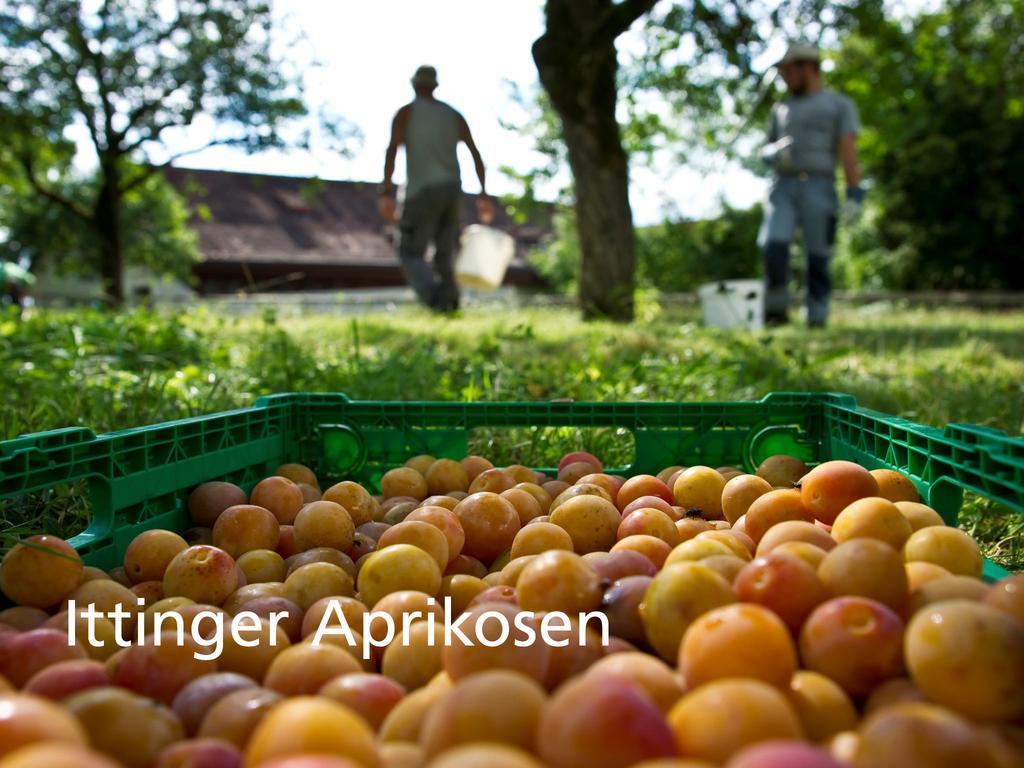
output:
[{"label": "bearded man in cap and gray t-shirt standing right of the trunk", "polygon": [[857,108],[821,83],[821,56],[809,45],[791,45],[776,65],[788,97],[772,108],[762,157],[775,171],[761,245],[765,260],[765,323],[786,323],[790,306],[790,244],[799,226],[807,253],[807,324],[823,328],[831,279],[828,258],[836,239],[839,202],[836,165],[846,177],[843,218],[852,223],[864,191],[857,164]]}]

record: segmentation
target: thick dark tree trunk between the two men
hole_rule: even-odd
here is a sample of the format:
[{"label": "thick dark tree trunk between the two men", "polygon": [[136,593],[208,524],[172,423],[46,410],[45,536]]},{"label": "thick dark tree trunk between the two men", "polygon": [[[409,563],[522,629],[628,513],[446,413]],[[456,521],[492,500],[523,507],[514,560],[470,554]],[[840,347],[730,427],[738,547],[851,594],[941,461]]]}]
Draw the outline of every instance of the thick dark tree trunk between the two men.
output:
[{"label": "thick dark tree trunk between the two men", "polygon": [[534,60],[561,120],[575,185],[584,317],[629,322],[636,256],[629,163],[615,119],[615,37],[629,23],[608,25],[610,7],[608,0],[548,0]]}]

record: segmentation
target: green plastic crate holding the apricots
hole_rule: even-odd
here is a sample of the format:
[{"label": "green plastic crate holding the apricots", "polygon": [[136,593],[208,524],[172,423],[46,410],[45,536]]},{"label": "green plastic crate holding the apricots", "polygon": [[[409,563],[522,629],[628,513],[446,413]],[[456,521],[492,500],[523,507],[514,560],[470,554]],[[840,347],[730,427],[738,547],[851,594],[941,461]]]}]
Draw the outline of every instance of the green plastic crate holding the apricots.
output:
[{"label": "green plastic crate holding the apricots", "polygon": [[[110,568],[153,527],[188,525],[200,482],[247,490],[285,462],[322,481],[381,475],[415,454],[461,458],[473,428],[612,427],[635,456],[623,473],[673,464],[752,470],[767,456],[808,463],[848,459],[908,474],[925,502],[955,524],[965,490],[1024,512],[1024,439],[954,424],[944,430],[859,408],[846,394],[776,392],[751,402],[420,402],[352,400],[339,393],[276,394],[253,408],[96,435],[58,429],[0,442],[0,499],[83,481],[89,527],[72,544]],[[554,460],[556,457],[551,457]],[[539,469],[544,469],[539,467]],[[985,575],[1006,571],[987,563]]]}]

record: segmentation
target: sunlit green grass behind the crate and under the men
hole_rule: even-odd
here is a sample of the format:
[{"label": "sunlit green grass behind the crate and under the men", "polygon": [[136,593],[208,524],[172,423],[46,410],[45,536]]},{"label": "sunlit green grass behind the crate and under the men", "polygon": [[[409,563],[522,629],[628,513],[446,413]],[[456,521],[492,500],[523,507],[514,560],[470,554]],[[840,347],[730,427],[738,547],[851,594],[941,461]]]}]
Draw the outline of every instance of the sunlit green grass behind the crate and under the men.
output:
[{"label": "sunlit green grass behind the crate and under the men", "polygon": [[[641,307],[632,326],[582,324],[563,309],[415,309],[230,318],[198,311],[0,315],[0,437],[81,425],[97,432],[246,406],[275,391],[358,398],[717,400],[831,390],[926,424],[1024,431],[1024,312],[846,308],[822,332],[705,329],[693,310]],[[474,434],[501,463],[543,464],[586,442],[627,458],[613,430]],[[67,496],[67,495],[66,495]],[[59,507],[60,520],[46,510]],[[44,510],[37,518],[31,510]],[[7,504],[0,531],[81,527],[67,505]],[[1021,517],[982,502],[963,524],[1024,568]]]}]

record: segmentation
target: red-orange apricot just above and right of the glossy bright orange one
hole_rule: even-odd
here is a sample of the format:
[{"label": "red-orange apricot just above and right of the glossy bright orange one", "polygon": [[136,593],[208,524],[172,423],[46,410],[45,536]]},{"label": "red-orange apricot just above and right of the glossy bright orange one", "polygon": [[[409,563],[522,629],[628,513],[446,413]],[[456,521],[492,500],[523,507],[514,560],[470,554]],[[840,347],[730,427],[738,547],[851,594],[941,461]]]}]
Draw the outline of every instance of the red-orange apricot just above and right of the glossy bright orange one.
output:
[{"label": "red-orange apricot just above and right of the glossy bright orange one", "polygon": [[811,611],[828,598],[814,568],[779,552],[745,565],[732,588],[739,600],[770,609],[795,633]]}]

